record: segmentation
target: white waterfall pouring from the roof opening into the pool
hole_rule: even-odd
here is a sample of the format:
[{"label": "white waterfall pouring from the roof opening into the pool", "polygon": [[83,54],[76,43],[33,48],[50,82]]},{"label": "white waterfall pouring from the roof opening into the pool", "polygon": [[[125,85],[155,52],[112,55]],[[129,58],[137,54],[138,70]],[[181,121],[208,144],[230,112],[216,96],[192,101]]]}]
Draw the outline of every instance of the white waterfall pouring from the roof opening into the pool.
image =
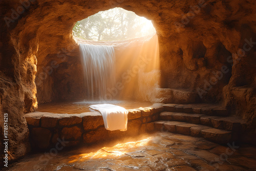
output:
[{"label": "white waterfall pouring from the roof opening into the pool", "polygon": [[115,84],[115,51],[112,46],[79,44],[87,92],[90,100],[105,100]]}]

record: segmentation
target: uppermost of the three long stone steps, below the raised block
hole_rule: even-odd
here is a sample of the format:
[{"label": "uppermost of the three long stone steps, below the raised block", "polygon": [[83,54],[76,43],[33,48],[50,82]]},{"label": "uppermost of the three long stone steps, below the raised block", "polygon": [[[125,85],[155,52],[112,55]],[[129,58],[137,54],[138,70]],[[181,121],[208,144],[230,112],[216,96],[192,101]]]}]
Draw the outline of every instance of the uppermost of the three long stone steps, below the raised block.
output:
[{"label": "uppermost of the three long stone steps, below the raised block", "polygon": [[196,113],[211,116],[228,116],[229,112],[219,104],[197,103],[197,104],[164,104],[167,112]]}]

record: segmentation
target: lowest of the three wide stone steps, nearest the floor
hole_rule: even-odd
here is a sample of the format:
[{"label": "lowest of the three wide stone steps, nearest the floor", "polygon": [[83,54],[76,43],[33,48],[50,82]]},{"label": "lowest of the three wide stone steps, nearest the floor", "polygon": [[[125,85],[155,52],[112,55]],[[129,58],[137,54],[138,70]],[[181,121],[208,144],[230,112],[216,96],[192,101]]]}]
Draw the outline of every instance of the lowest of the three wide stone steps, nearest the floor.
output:
[{"label": "lowest of the three wide stone steps, nearest the floor", "polygon": [[237,139],[237,136],[233,135],[231,131],[178,121],[155,121],[154,129],[161,132],[171,132],[194,137],[203,137],[209,141],[219,144],[226,144]]}]

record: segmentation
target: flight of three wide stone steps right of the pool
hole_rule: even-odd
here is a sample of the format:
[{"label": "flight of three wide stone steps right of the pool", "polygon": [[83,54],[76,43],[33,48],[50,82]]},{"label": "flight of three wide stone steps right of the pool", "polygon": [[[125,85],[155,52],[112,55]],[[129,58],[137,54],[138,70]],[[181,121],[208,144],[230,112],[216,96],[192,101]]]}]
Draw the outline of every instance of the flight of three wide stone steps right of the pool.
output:
[{"label": "flight of three wide stone steps right of the pool", "polygon": [[156,131],[203,137],[226,144],[238,141],[245,122],[217,104],[163,104]]}]

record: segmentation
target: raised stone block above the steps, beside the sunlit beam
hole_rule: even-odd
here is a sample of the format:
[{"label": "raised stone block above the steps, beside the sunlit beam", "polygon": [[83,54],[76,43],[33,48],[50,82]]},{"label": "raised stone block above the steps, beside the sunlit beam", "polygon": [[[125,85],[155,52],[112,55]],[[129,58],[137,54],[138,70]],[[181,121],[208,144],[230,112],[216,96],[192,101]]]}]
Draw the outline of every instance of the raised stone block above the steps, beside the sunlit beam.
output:
[{"label": "raised stone block above the steps, beside the sunlit beam", "polygon": [[156,89],[154,92],[154,103],[198,103],[200,98],[197,93],[177,89]]}]

